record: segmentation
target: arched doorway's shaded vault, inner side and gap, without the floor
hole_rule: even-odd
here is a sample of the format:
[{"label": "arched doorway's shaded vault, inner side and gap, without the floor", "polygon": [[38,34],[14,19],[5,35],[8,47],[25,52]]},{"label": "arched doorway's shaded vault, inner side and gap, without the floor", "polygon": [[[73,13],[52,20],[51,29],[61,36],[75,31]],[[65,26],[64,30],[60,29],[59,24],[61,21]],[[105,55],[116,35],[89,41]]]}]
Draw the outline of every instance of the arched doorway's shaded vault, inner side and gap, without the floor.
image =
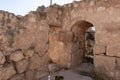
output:
[{"label": "arched doorway's shaded vault, inner side and gap, without the floor", "polygon": [[95,43],[95,28],[93,26],[92,23],[84,20],[78,21],[72,26],[72,67],[79,66],[82,63],[93,63],[93,46]]}]

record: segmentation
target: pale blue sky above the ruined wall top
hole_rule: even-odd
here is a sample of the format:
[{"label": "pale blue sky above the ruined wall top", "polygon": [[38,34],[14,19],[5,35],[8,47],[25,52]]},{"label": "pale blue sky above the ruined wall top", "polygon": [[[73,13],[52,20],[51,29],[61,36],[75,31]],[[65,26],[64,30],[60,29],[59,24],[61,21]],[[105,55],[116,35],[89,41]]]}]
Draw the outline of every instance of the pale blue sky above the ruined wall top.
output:
[{"label": "pale blue sky above the ruined wall top", "polygon": [[[71,3],[74,0],[53,0],[53,4],[59,5]],[[75,0],[79,1],[79,0]],[[0,0],[0,10],[12,12],[16,15],[25,15],[30,11],[35,11],[38,6],[49,6],[50,0]]]}]

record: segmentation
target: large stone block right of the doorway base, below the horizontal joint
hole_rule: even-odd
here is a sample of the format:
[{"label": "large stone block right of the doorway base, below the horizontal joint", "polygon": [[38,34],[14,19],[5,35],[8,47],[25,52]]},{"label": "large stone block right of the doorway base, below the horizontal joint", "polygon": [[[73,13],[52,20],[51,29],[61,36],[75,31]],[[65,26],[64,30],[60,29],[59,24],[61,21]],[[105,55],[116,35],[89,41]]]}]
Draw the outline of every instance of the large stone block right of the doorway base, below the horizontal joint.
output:
[{"label": "large stone block right of the doorway base, below the horizontal joint", "polygon": [[99,76],[102,76],[104,79],[110,79],[110,78],[111,80],[116,79],[114,76],[114,73],[116,73],[116,71],[114,70],[116,68],[115,57],[98,55],[98,56],[95,56],[94,58],[94,64],[95,64],[95,71],[97,72]]}]

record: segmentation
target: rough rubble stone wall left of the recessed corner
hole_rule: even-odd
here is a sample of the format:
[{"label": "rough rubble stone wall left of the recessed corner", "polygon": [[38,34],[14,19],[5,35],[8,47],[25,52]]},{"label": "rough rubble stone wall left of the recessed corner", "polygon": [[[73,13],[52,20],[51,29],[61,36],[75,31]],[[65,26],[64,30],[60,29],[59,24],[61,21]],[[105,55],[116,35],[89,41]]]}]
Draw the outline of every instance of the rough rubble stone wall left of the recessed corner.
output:
[{"label": "rough rubble stone wall left of the recessed corner", "polygon": [[0,80],[48,75],[48,34],[49,26],[37,12],[17,17],[0,11]]}]

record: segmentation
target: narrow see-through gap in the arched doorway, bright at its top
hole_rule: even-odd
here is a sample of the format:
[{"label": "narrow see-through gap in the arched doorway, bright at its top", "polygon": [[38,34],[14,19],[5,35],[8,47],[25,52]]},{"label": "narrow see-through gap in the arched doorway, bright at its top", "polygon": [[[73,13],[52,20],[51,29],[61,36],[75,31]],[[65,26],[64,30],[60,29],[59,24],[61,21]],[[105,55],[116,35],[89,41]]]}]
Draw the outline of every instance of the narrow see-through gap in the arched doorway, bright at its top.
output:
[{"label": "narrow see-through gap in the arched doorway, bright at its top", "polygon": [[90,27],[85,32],[85,62],[93,64],[93,47],[95,45],[95,27]]}]

